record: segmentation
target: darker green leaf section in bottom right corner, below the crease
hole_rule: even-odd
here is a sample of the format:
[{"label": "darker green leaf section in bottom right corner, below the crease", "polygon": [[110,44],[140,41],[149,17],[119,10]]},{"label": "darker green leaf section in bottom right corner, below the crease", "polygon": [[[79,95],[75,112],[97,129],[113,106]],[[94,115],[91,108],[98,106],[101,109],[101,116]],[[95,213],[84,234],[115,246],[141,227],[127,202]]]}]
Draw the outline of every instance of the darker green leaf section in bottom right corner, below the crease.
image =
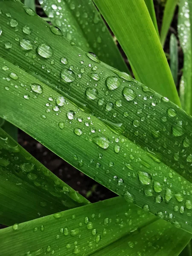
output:
[{"label": "darker green leaf section in bottom right corner, below the crease", "polygon": [[136,230],[123,236],[92,256],[108,255],[108,252],[110,256],[177,256],[191,237],[191,234],[158,220],[142,227],[139,232]]}]

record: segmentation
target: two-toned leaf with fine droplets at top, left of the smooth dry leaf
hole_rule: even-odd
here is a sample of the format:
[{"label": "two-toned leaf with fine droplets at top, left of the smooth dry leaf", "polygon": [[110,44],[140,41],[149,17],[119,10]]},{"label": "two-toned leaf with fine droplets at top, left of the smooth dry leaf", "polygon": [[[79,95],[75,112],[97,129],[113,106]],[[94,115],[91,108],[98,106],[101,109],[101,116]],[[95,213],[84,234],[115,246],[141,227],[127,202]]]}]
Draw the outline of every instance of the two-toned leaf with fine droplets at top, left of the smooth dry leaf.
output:
[{"label": "two-toned leaf with fine droplets at top, left of the smooth dry leaf", "polygon": [[128,72],[122,55],[92,0],[39,2],[51,23],[59,27],[67,39],[85,51],[94,52],[101,61]]}]

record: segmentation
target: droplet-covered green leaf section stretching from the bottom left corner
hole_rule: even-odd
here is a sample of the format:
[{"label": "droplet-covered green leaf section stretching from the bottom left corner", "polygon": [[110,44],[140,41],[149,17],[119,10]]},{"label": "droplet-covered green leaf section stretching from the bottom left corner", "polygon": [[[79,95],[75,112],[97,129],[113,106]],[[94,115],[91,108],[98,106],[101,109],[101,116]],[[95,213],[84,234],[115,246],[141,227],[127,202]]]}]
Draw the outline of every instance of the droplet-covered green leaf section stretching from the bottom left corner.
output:
[{"label": "droplet-covered green leaf section stretching from the bottom left corner", "polygon": [[0,230],[1,253],[88,256],[155,219],[123,198],[111,198]]}]

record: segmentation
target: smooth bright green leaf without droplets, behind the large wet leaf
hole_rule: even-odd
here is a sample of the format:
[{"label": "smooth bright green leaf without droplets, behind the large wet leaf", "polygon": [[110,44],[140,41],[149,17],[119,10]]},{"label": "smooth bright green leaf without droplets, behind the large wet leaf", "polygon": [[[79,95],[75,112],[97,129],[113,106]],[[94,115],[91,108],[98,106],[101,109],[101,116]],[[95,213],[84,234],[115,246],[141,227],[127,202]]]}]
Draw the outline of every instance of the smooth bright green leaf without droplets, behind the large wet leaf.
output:
[{"label": "smooth bright green leaf without droplets, behind the large wet leaf", "polygon": [[140,81],[180,105],[165,53],[144,0],[95,0]]}]

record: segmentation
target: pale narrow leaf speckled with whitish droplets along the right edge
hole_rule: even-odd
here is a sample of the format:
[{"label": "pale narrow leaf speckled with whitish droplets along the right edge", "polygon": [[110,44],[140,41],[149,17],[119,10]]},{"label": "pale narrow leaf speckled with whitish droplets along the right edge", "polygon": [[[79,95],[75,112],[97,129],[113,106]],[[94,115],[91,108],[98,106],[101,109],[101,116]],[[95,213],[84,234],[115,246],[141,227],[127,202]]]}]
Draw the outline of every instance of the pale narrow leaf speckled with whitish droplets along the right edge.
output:
[{"label": "pale narrow leaf speckled with whitish droplets along the right edge", "polygon": [[192,114],[192,38],[190,31],[191,15],[189,1],[181,0],[179,4],[178,35],[184,53],[183,76],[180,81],[180,101],[182,108]]}]

